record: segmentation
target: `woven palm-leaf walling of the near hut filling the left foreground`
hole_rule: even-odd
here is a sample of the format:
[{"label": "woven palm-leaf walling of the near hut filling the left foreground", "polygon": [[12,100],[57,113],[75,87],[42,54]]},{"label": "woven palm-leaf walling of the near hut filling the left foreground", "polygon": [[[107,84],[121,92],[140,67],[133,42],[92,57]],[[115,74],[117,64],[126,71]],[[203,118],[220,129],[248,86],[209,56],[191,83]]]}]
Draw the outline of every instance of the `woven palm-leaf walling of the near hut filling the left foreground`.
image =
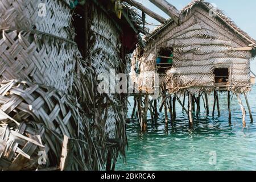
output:
[{"label": "woven palm-leaf walling of the near hut filling the left foreground", "polygon": [[[39,16],[39,3],[46,16]],[[68,1],[1,1],[0,12],[0,169],[60,169],[64,135],[64,169],[104,169],[108,151],[124,154],[123,103],[97,94],[97,74],[120,64],[118,49],[101,38],[109,28],[113,45],[118,42],[113,23],[97,22],[100,13],[91,17],[90,30],[101,32],[83,60]],[[121,144],[116,149],[108,138]]]}]

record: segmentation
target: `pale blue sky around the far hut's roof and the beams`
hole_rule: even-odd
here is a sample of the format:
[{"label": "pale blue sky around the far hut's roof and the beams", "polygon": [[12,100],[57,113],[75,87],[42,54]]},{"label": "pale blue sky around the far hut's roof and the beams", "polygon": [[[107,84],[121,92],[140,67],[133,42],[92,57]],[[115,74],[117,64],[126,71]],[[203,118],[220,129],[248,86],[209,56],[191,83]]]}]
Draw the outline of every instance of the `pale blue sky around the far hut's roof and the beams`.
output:
[{"label": "pale blue sky around the far hut's roof and the beams", "polygon": [[[163,16],[164,18],[170,18],[167,14],[163,13],[162,10],[158,9],[148,0],[136,0],[141,2],[148,9],[154,11],[155,13]],[[186,6],[191,0],[167,0],[172,5],[174,5],[178,10],[181,10]],[[214,3],[218,9],[221,9],[225,15],[229,16],[238,27],[243,31],[247,32],[252,38],[256,40],[256,1],[255,0],[208,0],[207,2]],[[153,23],[159,25],[155,19],[146,15],[146,21],[148,23]],[[148,26],[151,30],[155,26]],[[251,62],[251,71],[256,73],[256,59]]]}]

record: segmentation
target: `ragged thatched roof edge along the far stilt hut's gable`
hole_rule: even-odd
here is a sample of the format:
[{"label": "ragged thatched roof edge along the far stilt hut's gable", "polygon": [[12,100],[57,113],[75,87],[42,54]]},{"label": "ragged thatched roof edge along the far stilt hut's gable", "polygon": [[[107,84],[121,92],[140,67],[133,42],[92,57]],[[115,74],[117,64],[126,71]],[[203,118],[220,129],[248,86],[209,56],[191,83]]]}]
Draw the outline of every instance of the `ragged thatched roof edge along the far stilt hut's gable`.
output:
[{"label": "ragged thatched roof edge along the far stilt hut's gable", "polygon": [[[186,16],[187,14],[189,14],[189,12],[191,12],[192,8],[195,7],[196,5],[204,7],[208,10],[213,9],[213,5],[209,2],[205,2],[204,0],[193,0],[191,3],[189,3],[187,6],[185,6],[181,10],[181,15]],[[221,22],[223,22],[224,24],[226,24],[226,26],[228,26],[230,29],[236,32],[236,34],[240,36],[241,39],[248,42],[248,44],[254,44],[254,47],[256,46],[256,40],[251,38],[245,31],[241,30],[236,25],[236,23],[233,22],[232,19],[230,19],[228,16],[226,16],[223,13],[222,10],[218,9],[217,7],[215,9],[214,7],[214,12],[216,13],[216,18],[221,20]],[[155,35],[158,35],[159,32],[162,32],[168,26],[168,24],[171,24],[171,23],[174,23],[174,20],[170,18],[165,24],[162,24],[160,27],[156,28],[148,37],[154,38]]]}]

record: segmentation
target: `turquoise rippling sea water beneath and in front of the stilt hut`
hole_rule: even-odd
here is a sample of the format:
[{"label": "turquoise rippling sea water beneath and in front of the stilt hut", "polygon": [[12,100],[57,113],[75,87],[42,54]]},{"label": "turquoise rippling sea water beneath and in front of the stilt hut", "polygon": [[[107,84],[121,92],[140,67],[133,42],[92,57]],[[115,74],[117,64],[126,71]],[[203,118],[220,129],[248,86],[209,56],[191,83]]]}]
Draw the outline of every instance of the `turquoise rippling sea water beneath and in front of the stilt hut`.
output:
[{"label": "turquoise rippling sea water beneath and in front of the stilt hut", "polygon": [[[126,163],[118,160],[117,170],[256,170],[256,87],[248,96],[254,123],[250,123],[246,109],[246,127],[236,96],[232,100],[232,123],[228,122],[227,94],[219,95],[221,116],[212,118],[213,96],[208,96],[210,116],[207,117],[201,100],[199,119],[194,117],[189,129],[187,114],[176,102],[177,118],[168,132],[164,127],[164,113],[151,125],[148,113],[148,131],[141,133],[138,120],[127,123],[129,148]],[[182,97],[180,98],[183,99]],[[133,109],[129,99],[128,116]],[[186,101],[187,102],[187,101]],[[170,114],[168,113],[169,117]],[[170,119],[170,118],[169,118]]]}]

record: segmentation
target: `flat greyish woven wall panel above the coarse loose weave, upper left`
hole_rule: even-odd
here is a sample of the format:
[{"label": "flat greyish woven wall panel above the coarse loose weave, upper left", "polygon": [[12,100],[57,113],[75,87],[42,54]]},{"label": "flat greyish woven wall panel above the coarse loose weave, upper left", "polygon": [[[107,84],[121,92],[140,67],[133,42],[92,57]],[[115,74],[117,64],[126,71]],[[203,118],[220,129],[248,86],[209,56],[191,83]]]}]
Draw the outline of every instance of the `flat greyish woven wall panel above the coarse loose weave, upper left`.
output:
[{"label": "flat greyish woven wall panel above the coarse loose weave, upper left", "polygon": [[[38,15],[42,2],[46,16]],[[20,78],[67,93],[75,66],[68,4],[8,0],[1,1],[0,12],[0,81]]]}]

